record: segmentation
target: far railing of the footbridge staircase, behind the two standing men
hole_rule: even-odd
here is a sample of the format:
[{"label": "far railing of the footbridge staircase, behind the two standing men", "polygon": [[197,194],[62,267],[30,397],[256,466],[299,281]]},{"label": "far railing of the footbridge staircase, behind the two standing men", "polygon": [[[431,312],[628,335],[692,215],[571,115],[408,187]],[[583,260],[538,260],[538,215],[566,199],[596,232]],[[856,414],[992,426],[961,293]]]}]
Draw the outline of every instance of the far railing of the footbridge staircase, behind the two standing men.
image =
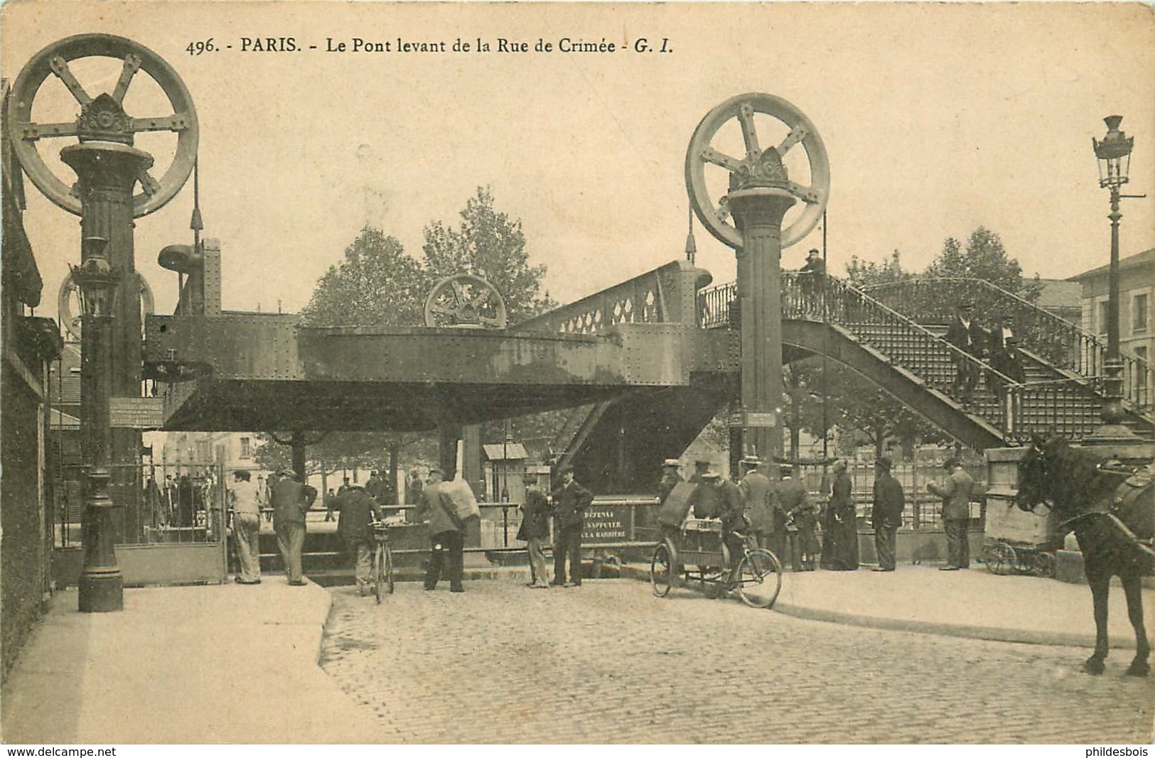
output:
[{"label": "far railing of the footbridge staircase, behind the two standing men", "polygon": [[[979,323],[993,327],[999,317],[1014,318],[1015,332],[1033,352],[1053,366],[1082,377],[1103,375],[1106,340],[1033,302],[983,279],[904,279],[863,287],[871,297],[921,323],[946,324],[963,300],[974,305]],[[1155,369],[1148,361],[1122,353],[1124,400],[1132,410],[1150,413]]]}]

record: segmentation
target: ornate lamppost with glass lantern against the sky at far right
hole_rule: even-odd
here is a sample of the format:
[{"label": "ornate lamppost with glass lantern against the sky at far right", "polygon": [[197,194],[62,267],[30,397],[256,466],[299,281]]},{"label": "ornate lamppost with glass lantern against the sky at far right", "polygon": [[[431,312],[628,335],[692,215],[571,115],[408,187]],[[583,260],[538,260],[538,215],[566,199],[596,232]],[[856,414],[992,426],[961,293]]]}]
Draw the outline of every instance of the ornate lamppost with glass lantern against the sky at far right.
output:
[{"label": "ornate lamppost with glass lantern against the sky at far right", "polygon": [[1106,377],[1103,381],[1103,423],[1086,441],[1100,445],[1139,441],[1123,423],[1123,360],[1119,357],[1119,219],[1123,213],[1119,212],[1119,200],[1142,197],[1119,194],[1119,188],[1127,183],[1134,137],[1119,129],[1122,115],[1109,115],[1103,121],[1106,122],[1106,136],[1102,142],[1091,137],[1091,145],[1098,160],[1098,186],[1111,190],[1111,212],[1108,213],[1111,219],[1111,265],[1108,276],[1106,360],[1103,363]]}]

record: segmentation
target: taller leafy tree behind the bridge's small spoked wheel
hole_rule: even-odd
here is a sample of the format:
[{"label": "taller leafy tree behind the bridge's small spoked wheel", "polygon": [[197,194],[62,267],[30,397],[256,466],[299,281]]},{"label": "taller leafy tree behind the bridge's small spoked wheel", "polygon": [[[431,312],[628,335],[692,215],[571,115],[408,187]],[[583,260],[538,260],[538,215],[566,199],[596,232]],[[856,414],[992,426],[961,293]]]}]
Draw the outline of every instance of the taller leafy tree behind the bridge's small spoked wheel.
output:
[{"label": "taller leafy tree behind the bridge's small spoked wheel", "polygon": [[440,220],[427,225],[422,250],[427,290],[455,273],[479,276],[505,298],[511,324],[557,305],[549,293],[542,294],[545,267],[529,264],[521,219],[498,211],[487,187],[478,187],[465,202],[457,228],[448,228]]}]

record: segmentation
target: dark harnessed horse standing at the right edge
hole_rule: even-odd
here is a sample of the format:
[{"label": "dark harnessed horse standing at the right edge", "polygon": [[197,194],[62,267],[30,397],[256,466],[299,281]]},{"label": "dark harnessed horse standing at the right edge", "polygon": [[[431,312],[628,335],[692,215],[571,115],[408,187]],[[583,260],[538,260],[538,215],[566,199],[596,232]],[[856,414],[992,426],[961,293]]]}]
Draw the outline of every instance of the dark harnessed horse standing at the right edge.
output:
[{"label": "dark harnessed horse standing at the right edge", "polygon": [[1060,532],[1074,531],[1095,609],[1095,652],[1083,663],[1102,674],[1108,653],[1106,610],[1112,576],[1119,577],[1135,630],[1130,676],[1147,676],[1150,643],[1143,628],[1142,577],[1155,573],[1155,485],[1149,470],[1098,461],[1063,437],[1036,437],[1019,463],[1016,504],[1051,506]]}]

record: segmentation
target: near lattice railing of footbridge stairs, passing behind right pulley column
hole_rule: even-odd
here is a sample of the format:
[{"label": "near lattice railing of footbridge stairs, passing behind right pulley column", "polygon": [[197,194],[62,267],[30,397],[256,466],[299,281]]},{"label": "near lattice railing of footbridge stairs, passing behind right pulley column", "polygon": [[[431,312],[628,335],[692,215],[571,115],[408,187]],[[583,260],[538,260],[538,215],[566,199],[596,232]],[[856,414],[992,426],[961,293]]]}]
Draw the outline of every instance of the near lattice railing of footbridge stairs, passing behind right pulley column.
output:
[{"label": "near lattice railing of footbridge stairs, passing behind right pulley column", "polygon": [[[796,272],[782,273],[782,317],[837,324],[860,342],[882,353],[896,367],[922,380],[929,388],[959,401],[955,395],[956,367],[970,363],[997,396],[991,406],[975,406],[1006,438],[1052,429],[1083,436],[1093,428],[1086,413],[1075,413],[1087,403],[1088,388],[1080,381],[1020,384],[989,363],[959,350],[932,331],[903,316],[886,303],[849,283],[827,277],[824,280]],[[702,328],[731,327],[739,322],[737,287],[726,283],[699,293],[699,324]],[[1006,392],[996,392],[1005,388]]]}]

